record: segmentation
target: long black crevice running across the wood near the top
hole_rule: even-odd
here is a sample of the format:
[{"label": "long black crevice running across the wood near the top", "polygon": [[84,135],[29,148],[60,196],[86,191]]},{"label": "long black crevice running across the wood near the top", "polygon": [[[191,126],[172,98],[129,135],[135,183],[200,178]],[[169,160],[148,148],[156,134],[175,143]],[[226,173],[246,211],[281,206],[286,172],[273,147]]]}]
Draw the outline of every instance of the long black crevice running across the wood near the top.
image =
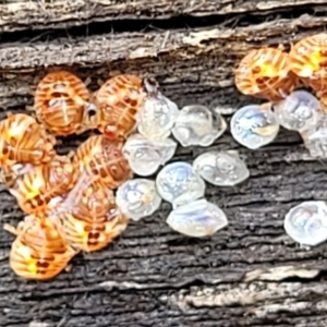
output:
[{"label": "long black crevice running across the wood near the top", "polygon": [[[316,7],[319,8],[319,7]],[[119,33],[148,33],[153,31],[173,31],[173,29],[194,29],[201,27],[218,26],[219,28],[244,27],[256,25],[269,21],[281,19],[298,19],[303,14],[315,16],[325,16],[325,12],[319,12],[315,5],[298,7],[293,11],[281,9],[279,12],[270,14],[262,12],[246,12],[246,14],[227,14],[227,15],[209,15],[209,16],[192,16],[178,15],[170,19],[152,19],[152,20],[119,20],[85,23],[82,26],[73,26],[68,28],[50,28],[47,32],[38,29],[24,29],[14,33],[3,33],[0,35],[0,48],[8,46],[7,44],[17,43],[39,43],[51,41],[60,38],[80,38],[95,35],[110,35]]]}]

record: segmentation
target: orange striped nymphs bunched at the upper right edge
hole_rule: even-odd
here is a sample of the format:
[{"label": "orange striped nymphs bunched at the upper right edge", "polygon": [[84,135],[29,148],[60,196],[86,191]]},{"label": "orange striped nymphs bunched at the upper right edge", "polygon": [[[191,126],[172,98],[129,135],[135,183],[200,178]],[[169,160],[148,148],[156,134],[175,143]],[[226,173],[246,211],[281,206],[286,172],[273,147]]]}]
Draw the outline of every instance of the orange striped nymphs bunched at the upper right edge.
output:
[{"label": "orange striped nymphs bunched at the upper right edge", "polygon": [[289,53],[282,47],[250,51],[235,70],[238,89],[272,105],[301,85],[327,106],[327,34],[301,39]]}]

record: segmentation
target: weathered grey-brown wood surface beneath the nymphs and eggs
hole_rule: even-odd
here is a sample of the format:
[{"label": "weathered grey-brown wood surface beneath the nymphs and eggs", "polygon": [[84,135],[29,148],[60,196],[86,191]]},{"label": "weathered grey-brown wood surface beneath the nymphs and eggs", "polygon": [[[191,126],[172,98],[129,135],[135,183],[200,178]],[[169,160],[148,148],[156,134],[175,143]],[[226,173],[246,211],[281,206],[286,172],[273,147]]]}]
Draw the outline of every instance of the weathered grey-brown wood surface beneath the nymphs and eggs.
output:
[{"label": "weathered grey-brown wood surface beneath the nymphs and eggs", "polygon": [[[238,60],[251,48],[324,31],[325,2],[2,0],[1,118],[31,106],[45,69],[55,65],[90,76],[94,89],[110,74],[149,73],[180,106],[198,102],[229,117],[253,101],[233,86]],[[62,150],[80,143],[70,138]],[[327,198],[325,162],[286,131],[256,152],[230,133],[213,148],[240,149],[251,170],[238,187],[208,185],[207,198],[230,221],[213,238],[172,232],[165,204],[107,250],[75,257],[71,272],[40,283],[10,270],[13,237],[1,229],[0,326],[326,327],[327,246],[301,249],[282,228],[291,206]],[[202,152],[180,147],[173,160]],[[0,192],[1,222],[17,223],[15,201]]]}]

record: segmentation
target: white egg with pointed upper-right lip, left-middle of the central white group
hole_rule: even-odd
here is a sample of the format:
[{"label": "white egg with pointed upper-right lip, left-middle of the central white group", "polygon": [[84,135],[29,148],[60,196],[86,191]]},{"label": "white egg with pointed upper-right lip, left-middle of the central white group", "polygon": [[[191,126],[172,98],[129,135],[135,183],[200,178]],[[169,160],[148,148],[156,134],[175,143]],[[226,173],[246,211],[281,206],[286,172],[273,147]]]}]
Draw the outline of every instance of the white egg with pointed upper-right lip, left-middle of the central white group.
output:
[{"label": "white egg with pointed upper-right lip, left-middle of the central white group", "polygon": [[146,177],[155,173],[173,157],[177,145],[171,138],[150,141],[141,134],[133,134],[126,140],[122,153],[131,169],[138,175]]}]

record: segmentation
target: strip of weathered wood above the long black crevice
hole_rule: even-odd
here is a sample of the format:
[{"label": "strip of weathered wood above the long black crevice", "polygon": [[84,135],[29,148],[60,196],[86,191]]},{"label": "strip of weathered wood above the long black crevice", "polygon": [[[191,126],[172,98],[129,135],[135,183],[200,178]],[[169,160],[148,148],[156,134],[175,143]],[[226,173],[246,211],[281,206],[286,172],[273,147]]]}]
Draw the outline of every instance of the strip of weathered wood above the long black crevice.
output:
[{"label": "strip of weathered wood above the long black crevice", "polygon": [[[3,3],[4,2],[4,3]],[[0,32],[25,28],[64,28],[90,22],[120,20],[165,20],[178,15],[195,17],[238,13],[261,14],[303,5],[324,4],[324,0],[3,0],[0,4]],[[323,7],[320,7],[323,9]]]}]

